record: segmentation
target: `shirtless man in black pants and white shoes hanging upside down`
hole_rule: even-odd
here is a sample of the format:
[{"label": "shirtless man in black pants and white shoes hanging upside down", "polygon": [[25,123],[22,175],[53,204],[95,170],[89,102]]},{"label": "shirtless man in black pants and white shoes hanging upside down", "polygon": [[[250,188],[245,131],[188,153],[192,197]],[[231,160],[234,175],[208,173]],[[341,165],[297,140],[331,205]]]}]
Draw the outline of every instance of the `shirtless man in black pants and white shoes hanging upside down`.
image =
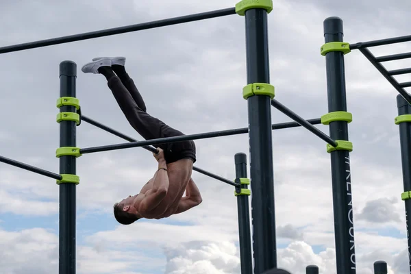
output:
[{"label": "shirtless man in black pants and white shoes hanging upside down", "polygon": [[[101,57],[82,67],[84,73],[102,74],[130,125],[146,140],[182,136],[172,127],[146,112],[145,102],[125,71],[124,57]],[[158,169],[140,190],[114,204],[116,220],[129,225],[138,219],[162,219],[198,206],[202,199],[191,179],[196,162],[195,143],[190,141],[162,144],[153,153]],[[184,191],[186,196],[183,197]]]}]

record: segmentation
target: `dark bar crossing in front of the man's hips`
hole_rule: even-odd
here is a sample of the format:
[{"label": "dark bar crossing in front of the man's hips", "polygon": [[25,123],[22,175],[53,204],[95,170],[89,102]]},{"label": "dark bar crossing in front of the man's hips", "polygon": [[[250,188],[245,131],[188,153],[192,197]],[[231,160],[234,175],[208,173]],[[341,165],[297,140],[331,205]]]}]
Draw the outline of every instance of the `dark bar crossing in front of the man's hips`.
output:
[{"label": "dark bar crossing in front of the man's hips", "polygon": [[[84,119],[84,116],[82,116],[82,119],[83,119],[83,121],[88,121],[87,118]],[[308,123],[308,122],[306,122],[306,123]],[[311,125],[310,123],[308,123],[308,124]],[[275,125],[273,125],[273,127],[275,127]],[[248,132],[248,128],[244,127],[244,128],[240,128],[240,129],[228,129],[228,130],[223,130],[223,131],[219,131],[219,132],[206,132],[206,133],[190,134],[190,135],[184,135],[184,136],[173,136],[173,137],[158,138],[158,139],[151,139],[151,140],[142,140],[142,141],[137,141],[137,142],[132,141],[132,142],[125,142],[125,143],[121,143],[121,144],[115,144],[115,145],[104,145],[104,146],[99,146],[99,147],[87,147],[87,148],[84,148],[84,149],[80,149],[80,153],[86,154],[86,153],[95,153],[95,152],[102,152],[102,151],[112,151],[112,150],[117,150],[117,149],[129,149],[129,148],[132,148],[132,147],[147,147],[149,145],[160,145],[160,144],[165,144],[167,142],[181,142],[181,141],[186,141],[186,140],[199,140],[199,139],[205,139],[205,138],[214,138],[214,137],[230,136],[230,135],[236,135],[236,134],[245,134],[247,132]],[[151,151],[151,149],[150,149],[150,151]]]}]

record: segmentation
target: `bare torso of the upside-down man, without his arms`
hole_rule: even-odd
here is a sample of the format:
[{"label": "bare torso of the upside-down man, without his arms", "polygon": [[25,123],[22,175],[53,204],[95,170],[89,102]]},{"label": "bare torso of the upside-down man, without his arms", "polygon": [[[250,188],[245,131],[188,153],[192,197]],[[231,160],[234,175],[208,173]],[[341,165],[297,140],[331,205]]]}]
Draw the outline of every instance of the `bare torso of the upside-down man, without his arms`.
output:
[{"label": "bare torso of the upside-down man, without his arms", "polygon": [[[187,184],[191,179],[193,162],[190,159],[182,159],[171,164],[167,164],[167,174],[169,176],[169,189],[166,197],[160,204],[145,212],[146,219],[162,219],[171,216],[177,211],[179,201],[184,195]],[[143,194],[153,187],[153,178],[142,187],[140,193]]]}]

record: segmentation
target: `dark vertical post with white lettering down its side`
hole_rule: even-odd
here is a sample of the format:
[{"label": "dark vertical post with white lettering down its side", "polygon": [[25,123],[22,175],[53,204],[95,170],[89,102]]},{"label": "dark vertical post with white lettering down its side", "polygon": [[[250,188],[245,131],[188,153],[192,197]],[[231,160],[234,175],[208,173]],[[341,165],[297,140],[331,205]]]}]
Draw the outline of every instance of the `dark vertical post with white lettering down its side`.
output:
[{"label": "dark vertical post with white lettering down its side", "polygon": [[[324,36],[325,43],[343,42],[343,21],[338,17],[325,19]],[[329,112],[347,112],[344,54],[341,51],[331,51],[325,55],[325,60],[328,110]],[[348,140],[347,122],[329,123],[329,136],[334,140]],[[337,274],[353,274],[356,273],[356,253],[349,151],[335,150],[330,154]]]}]

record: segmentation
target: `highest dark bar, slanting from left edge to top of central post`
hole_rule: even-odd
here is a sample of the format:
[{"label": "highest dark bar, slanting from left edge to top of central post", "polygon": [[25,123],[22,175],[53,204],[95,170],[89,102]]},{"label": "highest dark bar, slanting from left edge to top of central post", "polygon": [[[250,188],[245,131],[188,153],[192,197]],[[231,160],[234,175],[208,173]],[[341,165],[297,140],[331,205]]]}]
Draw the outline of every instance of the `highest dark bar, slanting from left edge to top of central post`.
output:
[{"label": "highest dark bar, slanting from left edge to top of central post", "polygon": [[112,29],[103,29],[96,32],[86,32],[83,34],[75,34],[70,36],[62,36],[58,38],[51,38],[47,40],[39,40],[35,42],[26,42],[18,45],[11,45],[7,47],[0,47],[1,53],[8,53],[13,51],[23,51],[25,49],[35,49],[38,47],[47,47],[51,45],[59,45],[67,42],[75,42],[93,38],[99,38],[104,36],[116,35],[116,34],[125,34],[127,32],[137,32],[144,29],[153,29],[155,27],[165,27],[168,25],[177,25],[181,23],[188,23],[193,21],[200,21],[210,18],[216,18],[221,16],[227,16],[236,14],[235,8],[227,8],[223,10],[214,10],[211,12],[202,12],[198,14],[190,14],[186,16],[179,16],[174,18],[168,18],[158,21],[151,21],[147,23],[140,23],[136,25],[127,25],[125,27],[114,27]]}]

